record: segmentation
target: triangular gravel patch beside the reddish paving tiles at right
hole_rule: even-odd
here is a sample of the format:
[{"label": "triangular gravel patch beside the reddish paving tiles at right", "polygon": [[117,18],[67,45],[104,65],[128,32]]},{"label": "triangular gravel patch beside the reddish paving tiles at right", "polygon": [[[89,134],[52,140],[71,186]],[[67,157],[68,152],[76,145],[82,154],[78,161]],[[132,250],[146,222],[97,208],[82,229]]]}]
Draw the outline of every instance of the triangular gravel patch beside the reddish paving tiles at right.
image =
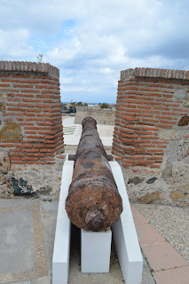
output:
[{"label": "triangular gravel patch beside the reddish paving tiles at right", "polygon": [[133,204],[136,209],[189,262],[189,208]]}]

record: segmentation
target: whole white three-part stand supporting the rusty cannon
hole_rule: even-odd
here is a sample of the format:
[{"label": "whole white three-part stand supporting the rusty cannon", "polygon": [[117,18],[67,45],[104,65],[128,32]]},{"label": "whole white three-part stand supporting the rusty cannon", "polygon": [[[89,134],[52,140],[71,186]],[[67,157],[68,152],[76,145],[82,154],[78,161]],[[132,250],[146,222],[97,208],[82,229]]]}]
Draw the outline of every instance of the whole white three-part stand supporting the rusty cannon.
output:
[{"label": "whole white three-part stand supporting the rusty cannon", "polygon": [[[138,244],[130,201],[128,199],[122,169],[117,162],[109,162],[114,180],[122,196],[123,211],[113,226],[115,248],[127,284],[140,284],[143,258]],[[52,283],[67,284],[70,250],[70,220],[65,210],[68,187],[72,181],[74,162],[66,161],[62,171],[59,194],[59,210],[52,259]],[[109,272],[112,232],[87,232],[82,230],[82,272]]]}]

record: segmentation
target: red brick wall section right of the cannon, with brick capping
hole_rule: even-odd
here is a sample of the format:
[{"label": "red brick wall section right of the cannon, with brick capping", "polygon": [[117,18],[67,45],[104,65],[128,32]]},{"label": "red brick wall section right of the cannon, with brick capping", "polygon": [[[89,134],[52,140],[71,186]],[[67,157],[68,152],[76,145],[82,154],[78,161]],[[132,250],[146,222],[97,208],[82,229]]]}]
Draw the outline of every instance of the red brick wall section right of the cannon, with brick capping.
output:
[{"label": "red brick wall section right of the cannon, with brick capping", "polygon": [[121,72],[113,154],[124,167],[161,167],[169,144],[161,139],[162,130],[177,131],[188,125],[188,93],[189,71],[135,68]]}]

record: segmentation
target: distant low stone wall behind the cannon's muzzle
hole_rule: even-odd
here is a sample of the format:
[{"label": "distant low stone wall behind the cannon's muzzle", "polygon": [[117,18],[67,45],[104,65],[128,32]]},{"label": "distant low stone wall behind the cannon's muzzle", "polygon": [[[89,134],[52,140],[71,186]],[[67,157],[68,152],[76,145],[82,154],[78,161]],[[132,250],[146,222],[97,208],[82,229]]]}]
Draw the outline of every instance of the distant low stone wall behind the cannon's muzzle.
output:
[{"label": "distant low stone wall behind the cannon's muzzle", "polygon": [[114,125],[115,111],[109,108],[96,108],[88,106],[77,106],[75,123],[81,124],[85,117],[93,117],[98,124]]}]

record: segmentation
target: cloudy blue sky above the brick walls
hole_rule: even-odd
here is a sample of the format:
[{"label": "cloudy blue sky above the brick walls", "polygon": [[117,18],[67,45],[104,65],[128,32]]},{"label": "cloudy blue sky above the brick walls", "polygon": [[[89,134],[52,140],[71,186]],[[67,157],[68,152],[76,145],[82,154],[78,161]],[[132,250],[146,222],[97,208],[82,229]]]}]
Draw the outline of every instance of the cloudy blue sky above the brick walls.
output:
[{"label": "cloudy blue sky above the brick walls", "polygon": [[114,103],[121,70],[189,70],[188,15],[188,0],[1,0],[0,60],[43,54],[62,101]]}]

